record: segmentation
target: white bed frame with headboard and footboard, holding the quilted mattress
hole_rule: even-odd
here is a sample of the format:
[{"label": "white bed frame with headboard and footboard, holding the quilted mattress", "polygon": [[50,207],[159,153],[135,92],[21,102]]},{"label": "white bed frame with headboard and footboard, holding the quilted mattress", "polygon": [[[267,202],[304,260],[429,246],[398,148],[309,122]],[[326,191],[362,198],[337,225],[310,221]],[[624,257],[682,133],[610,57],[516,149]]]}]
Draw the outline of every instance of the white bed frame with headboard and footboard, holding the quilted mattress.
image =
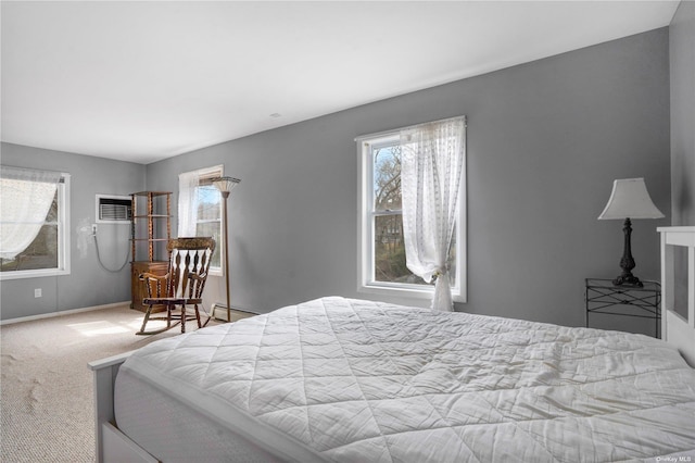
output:
[{"label": "white bed frame with headboard and footboard, holding the quilted mattress", "polygon": [[[661,234],[661,339],[677,347],[685,361],[695,367],[695,226],[660,227]],[[687,250],[687,320],[674,311],[674,247]],[[94,418],[97,462],[157,462],[146,450],[115,427],[113,390],[121,364],[130,355],[102,359],[89,363],[94,374]]]}]

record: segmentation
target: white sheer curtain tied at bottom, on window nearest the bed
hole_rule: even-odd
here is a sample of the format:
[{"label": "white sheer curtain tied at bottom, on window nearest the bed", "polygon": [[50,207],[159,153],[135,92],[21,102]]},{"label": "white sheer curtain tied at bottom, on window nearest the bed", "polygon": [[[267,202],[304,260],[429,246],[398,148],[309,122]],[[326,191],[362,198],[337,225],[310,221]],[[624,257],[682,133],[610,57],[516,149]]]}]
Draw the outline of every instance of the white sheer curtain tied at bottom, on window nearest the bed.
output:
[{"label": "white sheer curtain tied at bottom, on window nearest the bed", "polygon": [[430,283],[432,309],[452,311],[448,250],[465,163],[466,120],[455,117],[401,130],[403,233],[406,264]]}]

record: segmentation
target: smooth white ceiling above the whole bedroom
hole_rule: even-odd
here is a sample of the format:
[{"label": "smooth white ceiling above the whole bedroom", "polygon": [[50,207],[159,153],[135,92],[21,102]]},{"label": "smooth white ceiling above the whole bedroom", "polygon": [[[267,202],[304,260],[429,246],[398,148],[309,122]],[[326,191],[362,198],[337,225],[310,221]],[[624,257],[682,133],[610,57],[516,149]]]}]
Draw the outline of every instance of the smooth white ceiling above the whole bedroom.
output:
[{"label": "smooth white ceiling above the whole bedroom", "polygon": [[678,3],[2,1],[1,138],[147,164],[667,26]]}]

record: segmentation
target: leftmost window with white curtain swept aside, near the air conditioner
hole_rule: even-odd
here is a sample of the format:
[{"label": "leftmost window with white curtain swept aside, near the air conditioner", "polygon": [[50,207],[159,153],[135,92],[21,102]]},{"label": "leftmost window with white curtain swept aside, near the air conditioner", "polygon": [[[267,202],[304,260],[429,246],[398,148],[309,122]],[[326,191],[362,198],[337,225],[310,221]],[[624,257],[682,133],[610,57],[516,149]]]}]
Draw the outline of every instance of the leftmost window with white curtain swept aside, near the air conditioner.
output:
[{"label": "leftmost window with white curtain swept aside, near the air conditioner", "polygon": [[[54,176],[52,185],[45,174]],[[70,274],[70,174],[2,166],[0,183],[0,279]],[[29,212],[17,214],[17,209]],[[21,242],[20,236],[28,239]]]}]

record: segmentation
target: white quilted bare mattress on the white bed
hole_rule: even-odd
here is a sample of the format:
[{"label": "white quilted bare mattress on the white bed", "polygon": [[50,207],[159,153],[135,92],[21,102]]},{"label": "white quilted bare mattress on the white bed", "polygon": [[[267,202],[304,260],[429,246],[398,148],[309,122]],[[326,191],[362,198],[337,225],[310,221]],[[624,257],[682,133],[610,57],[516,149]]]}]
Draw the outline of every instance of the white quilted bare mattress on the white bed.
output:
[{"label": "white quilted bare mattress on the white bed", "polygon": [[[121,430],[165,461],[152,446],[227,461],[695,458],[695,370],[666,342],[338,297],[153,342],[114,395]],[[153,397],[199,424],[143,426],[164,410]]]}]

